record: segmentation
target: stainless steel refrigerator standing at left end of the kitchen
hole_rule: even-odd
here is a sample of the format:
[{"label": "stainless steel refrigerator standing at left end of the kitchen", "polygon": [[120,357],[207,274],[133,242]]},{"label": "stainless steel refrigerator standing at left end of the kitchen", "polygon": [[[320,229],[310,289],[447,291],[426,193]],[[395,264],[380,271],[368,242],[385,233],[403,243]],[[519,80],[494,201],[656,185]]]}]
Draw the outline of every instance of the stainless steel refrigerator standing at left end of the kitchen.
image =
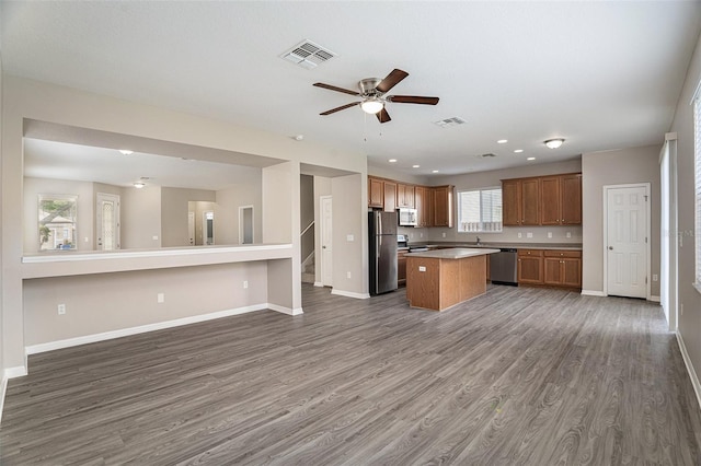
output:
[{"label": "stainless steel refrigerator standing at left end of the kitchen", "polygon": [[397,212],[368,212],[370,294],[397,290]]}]

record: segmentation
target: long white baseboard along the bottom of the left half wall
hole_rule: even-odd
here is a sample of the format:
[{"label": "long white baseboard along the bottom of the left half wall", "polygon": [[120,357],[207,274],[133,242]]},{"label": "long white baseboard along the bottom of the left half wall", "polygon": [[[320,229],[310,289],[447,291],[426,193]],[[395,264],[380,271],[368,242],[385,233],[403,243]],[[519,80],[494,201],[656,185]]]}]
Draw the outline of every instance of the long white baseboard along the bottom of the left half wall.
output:
[{"label": "long white baseboard along the bottom of the left half wall", "polygon": [[[199,322],[212,321],[215,318],[229,317],[232,315],[246,314],[250,312],[264,311],[268,308],[271,308],[271,306],[267,303],[253,304],[250,306],[237,307],[237,308],[227,310],[227,311],[218,311],[209,314],[193,315],[189,317],[177,318],[174,321],[158,322],[156,324],[139,325],[138,327],[122,328],[119,330],[111,330],[111,331],[104,331],[101,334],[85,335],[82,337],[67,338],[65,340],[49,341],[47,343],[32,345],[26,347],[25,351],[27,354],[37,354],[41,352],[54,351],[57,349],[77,347],[79,345],[94,343],[97,341],[111,340],[114,338],[122,338],[122,337],[128,337],[131,335],[145,334],[147,331],[163,330],[166,328],[180,327],[183,325],[196,324]],[[26,371],[24,374],[20,374],[20,375],[26,375]]]}]

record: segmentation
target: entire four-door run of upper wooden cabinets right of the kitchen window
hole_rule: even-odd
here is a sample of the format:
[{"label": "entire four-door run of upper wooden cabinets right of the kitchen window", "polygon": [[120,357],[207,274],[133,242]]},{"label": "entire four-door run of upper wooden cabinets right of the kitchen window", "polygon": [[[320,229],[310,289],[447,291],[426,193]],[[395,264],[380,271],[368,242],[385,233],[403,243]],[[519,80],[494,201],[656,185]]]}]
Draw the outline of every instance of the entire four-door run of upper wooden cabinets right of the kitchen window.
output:
[{"label": "entire four-door run of upper wooden cabinets right of the kitchen window", "polygon": [[502,180],[507,226],[582,224],[582,174]]}]

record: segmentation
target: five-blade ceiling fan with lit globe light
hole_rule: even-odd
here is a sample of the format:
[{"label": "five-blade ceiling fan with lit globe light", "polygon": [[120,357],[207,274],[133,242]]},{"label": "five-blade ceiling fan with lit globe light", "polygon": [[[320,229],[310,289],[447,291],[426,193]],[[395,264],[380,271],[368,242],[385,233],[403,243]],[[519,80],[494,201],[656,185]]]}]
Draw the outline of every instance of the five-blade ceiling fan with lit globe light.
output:
[{"label": "five-blade ceiling fan with lit globe light", "polygon": [[335,85],[324,84],[323,82],[315,82],[314,85],[317,88],[343,92],[344,94],[350,94],[363,98],[361,102],[354,102],[352,104],[342,105],[340,107],[323,112],[319,115],[331,115],[336,112],[345,110],[346,108],[360,105],[360,108],[363,108],[364,112],[368,114],[375,114],[380,123],[387,123],[392,119],[387,113],[386,104],[388,102],[395,102],[398,104],[422,105],[436,105],[438,103],[438,97],[423,97],[420,95],[384,95],[407,75],[409,73],[406,71],[394,69],[383,80],[380,80],[379,78],[366,78],[358,82],[360,92],[336,88]]}]

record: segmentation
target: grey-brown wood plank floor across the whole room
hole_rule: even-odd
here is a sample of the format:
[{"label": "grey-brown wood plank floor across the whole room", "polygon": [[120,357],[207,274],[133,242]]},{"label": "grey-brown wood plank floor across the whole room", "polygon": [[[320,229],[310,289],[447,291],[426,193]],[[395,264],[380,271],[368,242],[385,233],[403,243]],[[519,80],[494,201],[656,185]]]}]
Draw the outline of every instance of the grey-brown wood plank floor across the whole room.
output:
[{"label": "grey-brown wood plank floor across the whole room", "polygon": [[271,311],[30,358],[2,465],[699,465],[658,305],[492,287],[443,313],[303,286]]}]

